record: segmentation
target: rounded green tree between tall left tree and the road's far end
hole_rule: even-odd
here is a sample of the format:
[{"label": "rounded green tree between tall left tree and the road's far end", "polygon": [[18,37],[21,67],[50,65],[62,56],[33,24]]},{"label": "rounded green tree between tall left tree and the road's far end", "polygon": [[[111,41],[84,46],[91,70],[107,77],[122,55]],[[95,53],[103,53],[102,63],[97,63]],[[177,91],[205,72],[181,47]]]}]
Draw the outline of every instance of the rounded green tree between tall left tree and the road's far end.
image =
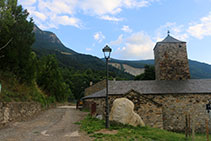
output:
[{"label": "rounded green tree between tall left tree and the road's far end", "polygon": [[67,101],[69,95],[72,95],[69,86],[64,82],[61,70],[58,67],[54,56],[43,57],[40,63],[40,73],[38,74],[37,84],[54,97],[56,101]]}]

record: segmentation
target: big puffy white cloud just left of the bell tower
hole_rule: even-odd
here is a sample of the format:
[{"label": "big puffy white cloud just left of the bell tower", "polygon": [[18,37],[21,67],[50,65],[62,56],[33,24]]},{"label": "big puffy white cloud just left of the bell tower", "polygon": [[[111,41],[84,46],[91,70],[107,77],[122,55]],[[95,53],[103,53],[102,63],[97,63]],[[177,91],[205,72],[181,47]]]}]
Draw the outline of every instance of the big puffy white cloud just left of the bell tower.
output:
[{"label": "big puffy white cloud just left of the bell tower", "polygon": [[125,46],[118,48],[116,53],[121,54],[122,58],[152,59],[154,45],[147,34],[137,32],[127,38]]}]

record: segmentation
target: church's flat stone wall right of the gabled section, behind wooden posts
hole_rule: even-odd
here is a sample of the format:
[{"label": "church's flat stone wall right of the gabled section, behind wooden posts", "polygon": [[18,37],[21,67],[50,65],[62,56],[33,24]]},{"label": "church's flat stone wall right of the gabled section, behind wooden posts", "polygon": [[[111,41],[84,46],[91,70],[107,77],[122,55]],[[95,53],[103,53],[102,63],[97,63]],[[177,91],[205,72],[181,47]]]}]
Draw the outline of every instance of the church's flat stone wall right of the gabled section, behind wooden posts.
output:
[{"label": "church's flat stone wall right of the gabled section, behind wooden posts", "polygon": [[[191,128],[195,120],[197,132],[205,132],[205,120],[209,119],[206,104],[211,99],[209,94],[180,94],[167,95],[163,99],[164,129],[184,131],[185,115],[190,114]],[[211,125],[209,125],[211,129]]]}]

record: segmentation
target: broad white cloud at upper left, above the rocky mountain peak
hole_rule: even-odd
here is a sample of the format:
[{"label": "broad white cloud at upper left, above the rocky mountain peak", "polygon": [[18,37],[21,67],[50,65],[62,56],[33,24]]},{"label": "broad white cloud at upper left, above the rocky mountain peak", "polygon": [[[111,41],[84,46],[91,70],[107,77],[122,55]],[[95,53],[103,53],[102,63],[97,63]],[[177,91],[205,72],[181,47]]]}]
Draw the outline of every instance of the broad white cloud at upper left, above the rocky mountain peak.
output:
[{"label": "broad white cloud at upper left, above the rocky mountain peak", "polygon": [[74,16],[77,0],[23,0],[20,4],[41,29],[58,28],[59,25],[82,27],[81,21]]}]

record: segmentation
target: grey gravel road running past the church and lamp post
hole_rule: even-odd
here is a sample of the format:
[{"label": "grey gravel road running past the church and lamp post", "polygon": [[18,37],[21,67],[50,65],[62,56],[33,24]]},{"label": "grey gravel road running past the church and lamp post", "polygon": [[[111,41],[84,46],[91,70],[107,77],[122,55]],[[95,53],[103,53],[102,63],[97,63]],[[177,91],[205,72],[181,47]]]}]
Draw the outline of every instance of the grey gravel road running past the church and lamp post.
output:
[{"label": "grey gravel road running past the church and lamp post", "polygon": [[86,113],[73,106],[60,106],[27,122],[15,122],[0,130],[0,141],[89,141],[74,124]]}]

